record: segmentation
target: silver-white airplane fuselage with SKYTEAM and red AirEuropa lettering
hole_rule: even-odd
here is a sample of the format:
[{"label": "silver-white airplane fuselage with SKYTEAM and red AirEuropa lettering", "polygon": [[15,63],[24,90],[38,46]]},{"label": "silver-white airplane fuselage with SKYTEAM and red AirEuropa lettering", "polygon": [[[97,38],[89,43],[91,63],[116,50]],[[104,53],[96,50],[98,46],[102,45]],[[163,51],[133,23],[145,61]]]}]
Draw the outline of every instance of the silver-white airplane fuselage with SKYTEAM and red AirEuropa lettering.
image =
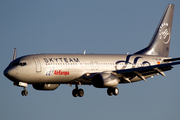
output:
[{"label": "silver-white airplane fuselage with SKYTEAM and red AirEuropa lettering", "polygon": [[[73,84],[85,74],[157,65],[163,59],[148,55],[39,54],[20,57],[7,69],[9,79],[14,82]],[[141,79],[132,82],[138,80]],[[82,79],[82,84],[91,84],[91,81]]]}]

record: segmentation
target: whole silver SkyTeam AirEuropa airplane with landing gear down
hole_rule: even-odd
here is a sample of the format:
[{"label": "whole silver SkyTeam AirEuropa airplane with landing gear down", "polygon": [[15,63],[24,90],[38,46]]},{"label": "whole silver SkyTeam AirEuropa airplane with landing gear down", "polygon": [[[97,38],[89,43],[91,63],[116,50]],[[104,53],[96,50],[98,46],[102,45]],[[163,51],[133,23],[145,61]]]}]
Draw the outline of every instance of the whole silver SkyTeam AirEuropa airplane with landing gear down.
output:
[{"label": "whole silver SkyTeam AirEuropa airplane with landing gear down", "polygon": [[47,91],[60,84],[75,85],[74,97],[84,95],[79,85],[93,85],[116,96],[118,84],[165,76],[164,71],[180,64],[180,58],[169,57],[173,13],[174,4],[168,4],[150,44],[134,54],[33,54],[16,59],[15,48],[4,75],[15,86],[23,87],[22,96],[28,95],[28,84]]}]

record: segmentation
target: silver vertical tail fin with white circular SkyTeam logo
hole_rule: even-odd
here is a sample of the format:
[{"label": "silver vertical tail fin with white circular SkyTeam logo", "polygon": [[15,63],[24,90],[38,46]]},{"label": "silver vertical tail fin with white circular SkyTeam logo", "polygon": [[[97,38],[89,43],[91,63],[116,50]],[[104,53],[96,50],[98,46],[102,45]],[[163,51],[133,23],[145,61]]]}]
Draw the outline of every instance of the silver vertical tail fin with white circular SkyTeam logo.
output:
[{"label": "silver vertical tail fin with white circular SkyTeam logo", "polygon": [[169,4],[159,22],[159,25],[156,28],[150,44],[146,48],[134,54],[158,55],[162,57],[168,57],[171,40],[173,13],[174,5]]}]

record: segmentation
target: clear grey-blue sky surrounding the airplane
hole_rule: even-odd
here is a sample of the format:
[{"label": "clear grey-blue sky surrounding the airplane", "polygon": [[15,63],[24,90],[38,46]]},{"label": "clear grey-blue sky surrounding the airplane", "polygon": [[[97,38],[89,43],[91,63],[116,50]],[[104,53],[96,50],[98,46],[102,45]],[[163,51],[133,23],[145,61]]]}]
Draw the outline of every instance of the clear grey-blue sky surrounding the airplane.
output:
[{"label": "clear grey-blue sky surrounding the airplane", "polygon": [[180,66],[166,77],[118,85],[109,97],[106,89],[80,86],[83,98],[72,97],[74,86],[36,91],[13,86],[3,75],[17,56],[39,53],[134,53],[147,46],[167,4],[175,4],[170,56],[179,57],[179,0],[126,1],[0,1],[0,119],[179,120]]}]

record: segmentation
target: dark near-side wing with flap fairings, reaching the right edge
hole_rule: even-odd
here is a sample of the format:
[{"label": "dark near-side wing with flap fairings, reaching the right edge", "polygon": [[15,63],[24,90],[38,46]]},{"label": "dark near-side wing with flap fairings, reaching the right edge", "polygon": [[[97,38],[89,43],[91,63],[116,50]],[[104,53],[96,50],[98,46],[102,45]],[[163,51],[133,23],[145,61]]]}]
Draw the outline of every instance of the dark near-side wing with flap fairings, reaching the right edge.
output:
[{"label": "dark near-side wing with flap fairings, reaching the right edge", "polygon": [[[157,74],[157,73],[161,74],[162,76],[165,76],[163,71],[171,70],[171,68],[173,68],[172,67],[173,65],[180,64],[180,61],[177,61],[177,60],[180,60],[180,58],[164,60],[164,62],[176,61],[172,63],[161,63],[159,65],[122,69],[122,70],[116,70],[116,71],[104,71],[104,73],[112,73],[116,75],[118,78],[122,80],[123,83],[131,82],[131,79],[135,76],[138,76],[140,79],[146,81],[146,78],[150,77],[151,75],[153,76],[154,74]],[[93,76],[100,73],[88,73],[89,75],[84,74],[81,77],[71,81],[69,84],[81,83],[81,84],[91,85]]]}]

